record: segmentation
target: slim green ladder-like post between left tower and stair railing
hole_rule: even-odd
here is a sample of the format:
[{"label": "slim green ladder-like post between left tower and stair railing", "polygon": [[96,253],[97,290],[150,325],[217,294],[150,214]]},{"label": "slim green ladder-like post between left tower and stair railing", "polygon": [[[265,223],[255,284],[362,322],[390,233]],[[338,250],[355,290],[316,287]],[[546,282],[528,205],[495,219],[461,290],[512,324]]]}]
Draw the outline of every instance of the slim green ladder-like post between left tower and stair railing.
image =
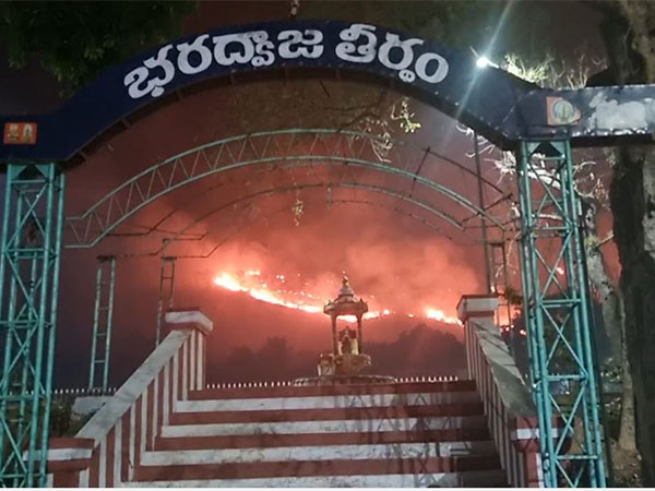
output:
[{"label": "slim green ladder-like post between left tower and stair railing", "polygon": [[90,390],[100,388],[105,392],[109,382],[115,289],[116,256],[100,255],[98,256],[96,299],[93,312],[93,337],[88,368]]}]

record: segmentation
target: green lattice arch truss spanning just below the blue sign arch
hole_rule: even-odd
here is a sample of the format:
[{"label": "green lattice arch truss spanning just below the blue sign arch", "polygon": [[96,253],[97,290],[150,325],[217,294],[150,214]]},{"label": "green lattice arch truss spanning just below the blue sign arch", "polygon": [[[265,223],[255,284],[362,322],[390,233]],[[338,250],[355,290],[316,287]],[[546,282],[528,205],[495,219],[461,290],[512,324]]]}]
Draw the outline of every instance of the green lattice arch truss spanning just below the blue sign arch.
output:
[{"label": "green lattice arch truss spanning just below the blue sign arch", "polygon": [[[395,143],[403,146],[402,142]],[[407,170],[410,163],[398,157],[393,166],[386,161],[393,161],[393,156],[381,159],[380,152],[380,139],[340,130],[283,130],[218,140],[148,167],[107,193],[81,216],[67,218],[67,230],[72,238],[67,248],[94,247],[139,209],[191,182],[218,172],[281,163],[296,167],[347,164],[407,178],[441,193],[495,226],[503,227],[487,211],[460,193]],[[475,176],[471,169],[444,156],[430,154]],[[502,194],[496,184],[483,181]]]}]

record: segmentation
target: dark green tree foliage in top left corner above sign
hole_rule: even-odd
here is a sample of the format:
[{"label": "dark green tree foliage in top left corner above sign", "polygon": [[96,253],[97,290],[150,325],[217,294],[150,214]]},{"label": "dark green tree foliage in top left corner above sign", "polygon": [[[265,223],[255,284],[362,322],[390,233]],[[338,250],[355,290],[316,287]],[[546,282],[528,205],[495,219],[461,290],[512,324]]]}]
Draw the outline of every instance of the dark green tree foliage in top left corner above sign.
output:
[{"label": "dark green tree foliage in top left corner above sign", "polygon": [[178,34],[192,1],[0,2],[9,63],[36,60],[71,94],[103,70]]}]

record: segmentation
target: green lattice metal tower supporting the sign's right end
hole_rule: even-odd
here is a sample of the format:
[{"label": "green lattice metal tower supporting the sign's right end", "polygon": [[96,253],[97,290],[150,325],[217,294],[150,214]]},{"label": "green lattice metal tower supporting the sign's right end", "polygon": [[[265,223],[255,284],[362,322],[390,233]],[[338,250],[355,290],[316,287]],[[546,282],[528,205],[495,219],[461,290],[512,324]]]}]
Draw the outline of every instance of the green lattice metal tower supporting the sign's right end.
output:
[{"label": "green lattice metal tower supporting the sign's right end", "polygon": [[605,487],[570,143],[522,142],[516,160],[524,315],[545,484]]}]

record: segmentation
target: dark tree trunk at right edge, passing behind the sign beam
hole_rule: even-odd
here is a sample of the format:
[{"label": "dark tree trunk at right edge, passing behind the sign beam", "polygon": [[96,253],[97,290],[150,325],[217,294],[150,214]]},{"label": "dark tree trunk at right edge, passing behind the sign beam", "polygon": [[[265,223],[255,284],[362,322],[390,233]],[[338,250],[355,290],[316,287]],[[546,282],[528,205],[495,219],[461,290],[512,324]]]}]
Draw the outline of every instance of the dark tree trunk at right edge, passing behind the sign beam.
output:
[{"label": "dark tree trunk at right edge, passing behind the sign beam", "polygon": [[[655,4],[631,0],[598,2],[609,69],[605,81],[655,83]],[[634,383],[638,446],[645,486],[655,484],[655,148],[617,148],[610,189],[615,240],[626,301],[626,348]]]}]

